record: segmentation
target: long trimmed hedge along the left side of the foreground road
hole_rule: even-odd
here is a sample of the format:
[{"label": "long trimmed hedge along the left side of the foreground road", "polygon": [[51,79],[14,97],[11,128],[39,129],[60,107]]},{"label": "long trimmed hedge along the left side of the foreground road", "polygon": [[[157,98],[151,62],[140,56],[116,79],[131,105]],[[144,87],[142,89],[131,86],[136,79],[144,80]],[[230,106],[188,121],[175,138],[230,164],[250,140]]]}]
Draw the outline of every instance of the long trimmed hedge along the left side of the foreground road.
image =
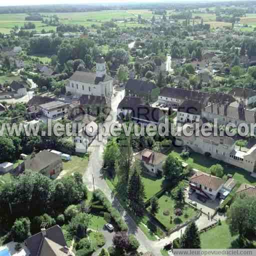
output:
[{"label": "long trimmed hedge along the left side of the foreground road", "polygon": [[123,221],[119,211],[112,207],[111,203],[108,201],[108,199],[105,197],[104,193],[101,190],[96,189],[93,192],[92,200],[93,201],[98,200],[101,202],[101,204],[105,207],[105,209],[110,213],[111,218],[117,224],[120,231],[128,230],[128,227],[127,227],[126,223]]}]

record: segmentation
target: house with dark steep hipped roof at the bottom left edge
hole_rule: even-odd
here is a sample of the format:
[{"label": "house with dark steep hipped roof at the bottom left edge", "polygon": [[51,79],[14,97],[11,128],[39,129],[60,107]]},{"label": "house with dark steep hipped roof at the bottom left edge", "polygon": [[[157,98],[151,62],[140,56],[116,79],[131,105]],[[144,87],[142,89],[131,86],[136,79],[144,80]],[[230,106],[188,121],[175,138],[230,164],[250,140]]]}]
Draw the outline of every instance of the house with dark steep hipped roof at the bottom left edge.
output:
[{"label": "house with dark steep hipped roof at the bottom left edge", "polygon": [[29,256],[74,256],[59,225],[42,228],[41,232],[28,237],[25,245]]}]

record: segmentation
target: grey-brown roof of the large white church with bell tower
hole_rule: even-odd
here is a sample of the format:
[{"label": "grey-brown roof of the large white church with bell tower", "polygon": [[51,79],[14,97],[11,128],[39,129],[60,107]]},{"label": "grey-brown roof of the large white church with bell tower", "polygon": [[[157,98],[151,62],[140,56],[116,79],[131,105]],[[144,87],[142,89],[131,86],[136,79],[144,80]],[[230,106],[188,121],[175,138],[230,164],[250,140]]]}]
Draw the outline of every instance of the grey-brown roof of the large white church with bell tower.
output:
[{"label": "grey-brown roof of the large white church with bell tower", "polygon": [[69,81],[83,82],[89,84],[98,84],[99,82],[105,82],[111,80],[112,77],[109,75],[103,75],[102,77],[97,77],[96,73],[75,71]]}]

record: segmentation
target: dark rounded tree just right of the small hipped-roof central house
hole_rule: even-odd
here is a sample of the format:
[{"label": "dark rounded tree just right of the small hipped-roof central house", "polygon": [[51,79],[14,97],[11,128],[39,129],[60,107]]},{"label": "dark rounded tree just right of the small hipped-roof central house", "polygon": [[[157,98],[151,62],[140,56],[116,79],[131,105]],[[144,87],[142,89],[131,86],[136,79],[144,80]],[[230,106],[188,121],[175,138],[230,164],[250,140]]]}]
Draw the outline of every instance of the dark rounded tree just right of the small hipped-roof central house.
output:
[{"label": "dark rounded tree just right of the small hipped-roof central house", "polygon": [[171,154],[168,154],[165,162],[162,165],[162,169],[165,177],[174,182],[177,181],[183,172],[182,162]]}]

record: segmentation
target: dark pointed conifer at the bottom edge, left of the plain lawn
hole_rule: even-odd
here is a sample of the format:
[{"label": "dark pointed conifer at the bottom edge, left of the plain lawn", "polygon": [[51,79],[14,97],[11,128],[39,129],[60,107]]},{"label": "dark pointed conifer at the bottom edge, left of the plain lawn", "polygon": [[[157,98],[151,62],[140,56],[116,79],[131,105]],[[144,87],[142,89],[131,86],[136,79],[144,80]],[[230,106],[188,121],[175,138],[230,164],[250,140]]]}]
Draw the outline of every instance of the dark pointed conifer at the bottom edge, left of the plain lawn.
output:
[{"label": "dark pointed conifer at the bottom edge, left of the plain lawn", "polygon": [[189,224],[184,234],[181,237],[180,247],[182,249],[199,249],[200,245],[200,234],[195,222]]}]

